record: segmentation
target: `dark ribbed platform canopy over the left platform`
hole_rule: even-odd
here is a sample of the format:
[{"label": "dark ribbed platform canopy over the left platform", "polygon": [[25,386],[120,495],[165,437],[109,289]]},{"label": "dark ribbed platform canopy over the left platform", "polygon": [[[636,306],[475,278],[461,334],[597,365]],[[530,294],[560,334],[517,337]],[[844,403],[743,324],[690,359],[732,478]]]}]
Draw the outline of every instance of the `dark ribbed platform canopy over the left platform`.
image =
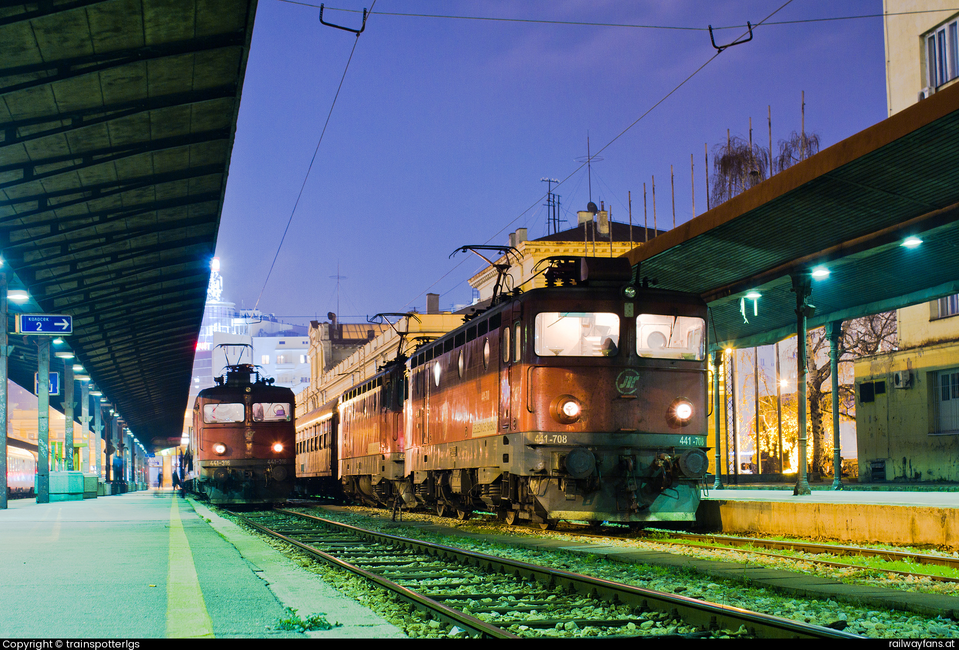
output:
[{"label": "dark ribbed platform canopy over the left platform", "polygon": [[255,11],[0,0],[0,270],[145,444],[182,429]]}]

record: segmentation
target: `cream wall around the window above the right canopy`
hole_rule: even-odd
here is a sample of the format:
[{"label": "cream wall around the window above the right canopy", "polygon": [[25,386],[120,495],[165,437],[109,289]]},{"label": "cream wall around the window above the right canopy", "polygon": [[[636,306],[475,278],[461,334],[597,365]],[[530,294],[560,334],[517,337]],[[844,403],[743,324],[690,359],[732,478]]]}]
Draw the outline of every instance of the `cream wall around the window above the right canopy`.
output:
[{"label": "cream wall around the window above the right canopy", "polygon": [[[883,0],[886,49],[886,95],[889,115],[919,100],[926,85],[924,34],[954,17],[956,4],[948,0]],[[907,13],[908,11],[932,11]],[[888,15],[888,14],[904,15]],[[944,84],[959,81],[952,79]],[[940,88],[944,87],[940,86]]]}]

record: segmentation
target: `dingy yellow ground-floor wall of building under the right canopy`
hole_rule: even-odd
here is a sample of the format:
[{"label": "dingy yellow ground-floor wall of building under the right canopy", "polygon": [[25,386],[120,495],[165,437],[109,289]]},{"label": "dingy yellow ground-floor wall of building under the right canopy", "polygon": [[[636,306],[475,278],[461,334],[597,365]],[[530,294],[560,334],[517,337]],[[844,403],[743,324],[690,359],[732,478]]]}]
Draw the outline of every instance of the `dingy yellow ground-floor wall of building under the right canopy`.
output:
[{"label": "dingy yellow ground-floor wall of building under the right canopy", "polygon": [[[928,309],[927,305],[918,306]],[[949,320],[959,323],[959,319]],[[931,435],[935,373],[957,366],[959,341],[856,360],[855,432],[860,481],[870,480],[873,460],[885,460],[886,481],[959,482],[959,436]],[[912,372],[911,388],[893,387],[897,370]],[[885,381],[886,392],[876,395],[875,402],[862,403],[859,385],[869,381]]]}]

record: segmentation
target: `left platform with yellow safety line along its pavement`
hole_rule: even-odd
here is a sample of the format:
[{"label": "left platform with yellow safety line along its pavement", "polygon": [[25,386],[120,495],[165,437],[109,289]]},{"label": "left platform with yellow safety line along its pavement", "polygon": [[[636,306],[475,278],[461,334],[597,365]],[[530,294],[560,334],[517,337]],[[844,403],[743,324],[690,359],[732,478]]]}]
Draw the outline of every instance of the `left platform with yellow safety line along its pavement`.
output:
[{"label": "left platform with yellow safety line along its pavement", "polygon": [[[172,490],[13,500],[0,510],[0,555],[3,638],[404,636],[259,538],[210,511],[201,517]],[[288,607],[342,625],[274,629]]]}]

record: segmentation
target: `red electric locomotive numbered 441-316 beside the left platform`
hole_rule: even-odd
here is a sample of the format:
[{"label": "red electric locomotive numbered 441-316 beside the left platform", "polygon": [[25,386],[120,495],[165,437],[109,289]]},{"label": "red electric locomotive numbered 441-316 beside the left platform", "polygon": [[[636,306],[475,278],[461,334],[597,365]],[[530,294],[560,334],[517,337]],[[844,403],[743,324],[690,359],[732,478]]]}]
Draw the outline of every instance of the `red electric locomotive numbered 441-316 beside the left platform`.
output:
[{"label": "red electric locomotive numbered 441-316 beside the left platform", "polygon": [[249,364],[226,366],[193,406],[187,489],[213,504],[286,501],[294,481],[294,397]]}]

